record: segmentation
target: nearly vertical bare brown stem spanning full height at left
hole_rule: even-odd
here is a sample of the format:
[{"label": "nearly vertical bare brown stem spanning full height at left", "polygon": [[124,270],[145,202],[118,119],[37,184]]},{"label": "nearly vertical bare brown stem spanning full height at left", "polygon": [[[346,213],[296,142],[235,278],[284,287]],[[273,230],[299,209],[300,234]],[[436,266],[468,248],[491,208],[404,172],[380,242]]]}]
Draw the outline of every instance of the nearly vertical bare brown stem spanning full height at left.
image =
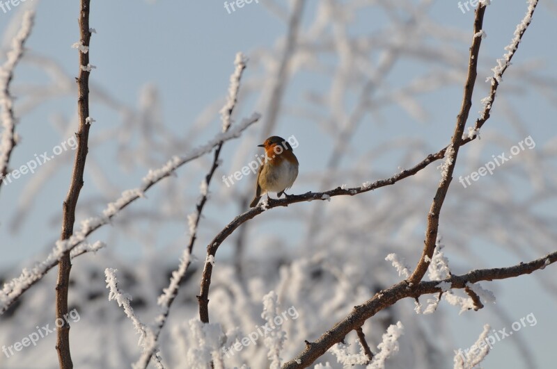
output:
[{"label": "nearly vertical bare brown stem spanning full height at left", "polygon": [[[68,240],[74,232],[75,208],[79,192],[83,187],[83,174],[85,161],[88,151],[89,129],[91,128],[91,118],[89,117],[89,69],[84,66],[89,65],[89,41],[91,40],[91,30],[89,29],[89,4],[91,0],[81,0],[79,12],[79,31],[80,40],[78,47],[79,54],[79,76],[77,82],[77,112],[79,115],[79,130],[77,136],[77,149],[75,151],[75,161],[72,171],[72,179],[68,195],[63,203],[63,221],[61,240]],[[58,280],[56,281],[56,319],[63,320],[63,325],[58,327],[56,335],[56,350],[58,351],[58,362],[61,369],[72,369],[72,356],[70,354],[70,324],[64,320],[68,314],[68,289],[70,286],[70,270],[72,262],[70,260],[70,250],[63,252],[58,261]]]}]

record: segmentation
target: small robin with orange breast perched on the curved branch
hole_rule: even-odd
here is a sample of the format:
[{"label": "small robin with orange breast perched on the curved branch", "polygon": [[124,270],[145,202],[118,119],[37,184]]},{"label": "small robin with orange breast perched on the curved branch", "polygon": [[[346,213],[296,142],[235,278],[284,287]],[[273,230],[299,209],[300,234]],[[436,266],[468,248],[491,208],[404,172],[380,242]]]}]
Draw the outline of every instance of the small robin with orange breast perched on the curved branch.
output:
[{"label": "small robin with orange breast perched on the curved branch", "polygon": [[284,190],[292,187],[298,177],[298,159],[288,141],[278,136],[271,136],[258,147],[265,148],[265,162],[259,167],[257,174],[256,197],[253,197],[253,201],[249,204],[252,208],[258,204],[265,193],[267,198],[269,192],[277,192],[278,197],[283,193],[286,195]]}]

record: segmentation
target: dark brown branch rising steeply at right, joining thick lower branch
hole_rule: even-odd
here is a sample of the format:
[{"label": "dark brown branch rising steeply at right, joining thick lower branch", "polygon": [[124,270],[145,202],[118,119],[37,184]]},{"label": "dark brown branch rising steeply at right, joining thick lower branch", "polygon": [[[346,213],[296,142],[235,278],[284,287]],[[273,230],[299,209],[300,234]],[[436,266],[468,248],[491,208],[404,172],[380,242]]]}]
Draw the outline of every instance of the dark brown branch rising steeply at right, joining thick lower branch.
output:
[{"label": "dark brown branch rising steeply at right, joining thick lower branch", "polygon": [[476,69],[478,66],[478,54],[480,53],[480,44],[482,42],[481,36],[478,37],[483,25],[483,16],[485,14],[485,5],[480,3],[476,9],[476,19],[474,19],[473,39],[472,46],[470,47],[470,58],[468,62],[468,76],[466,77],[466,84],[464,85],[464,96],[462,97],[462,106],[460,113],[457,115],[457,123],[453,133],[453,139],[445,153],[445,162],[441,165],[442,177],[439,181],[439,187],[427,214],[427,230],[425,231],[425,241],[423,252],[418,265],[414,268],[414,272],[410,276],[409,284],[416,285],[427,272],[429,261],[433,257],[435,243],[437,241],[437,232],[439,231],[439,215],[441,213],[441,206],[445,201],[450,181],[453,179],[453,171],[457,163],[458,151],[462,142],[462,133],[464,133],[464,126],[470,108],[472,107],[472,93],[474,84],[476,83],[476,76],[478,75]]}]

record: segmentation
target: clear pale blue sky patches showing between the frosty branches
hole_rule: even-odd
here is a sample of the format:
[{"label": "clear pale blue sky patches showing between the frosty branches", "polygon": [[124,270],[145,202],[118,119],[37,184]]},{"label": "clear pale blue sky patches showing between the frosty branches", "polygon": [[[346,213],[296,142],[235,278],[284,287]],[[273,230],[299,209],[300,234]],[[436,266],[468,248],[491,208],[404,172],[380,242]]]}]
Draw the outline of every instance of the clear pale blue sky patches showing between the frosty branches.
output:
[{"label": "clear pale blue sky patches showing between the frosty branches", "polygon": [[[93,1],[91,10],[91,26],[97,33],[91,40],[91,63],[97,67],[91,74],[91,83],[104,90],[118,99],[121,104],[130,107],[138,106],[139,90],[146,85],[154,85],[160,94],[162,101],[162,116],[168,129],[175,135],[183,136],[187,132],[191,122],[196,120],[205,107],[213,104],[215,99],[223,99],[228,88],[228,79],[233,70],[233,60],[237,51],[243,51],[246,56],[258,47],[272,47],[277,38],[285,32],[285,25],[281,19],[269,11],[269,6],[265,6],[265,0],[260,3],[246,4],[244,8],[238,9],[228,14],[223,6],[223,1]],[[27,1],[29,5],[29,0]],[[312,13],[317,1],[308,1],[304,12]],[[457,1],[434,1],[434,6],[430,15],[437,19],[441,28],[450,26],[464,30],[471,29],[473,22],[473,12],[462,13],[457,6]],[[523,17],[526,10],[525,1],[503,1],[494,0],[492,6],[487,9],[485,17],[485,30],[487,39],[483,41],[480,51],[481,65],[495,65],[496,58],[504,53],[503,47],[510,41],[512,32],[515,30],[519,19]],[[77,1],[62,0],[56,1],[33,1],[33,6],[37,7],[36,26],[26,47],[34,55],[47,56],[56,60],[67,74],[77,74],[77,53],[71,48],[77,42],[77,13],[79,7]],[[284,6],[280,3],[280,6]],[[0,34],[9,33],[8,25],[10,21],[19,15],[24,5],[18,6],[8,13],[0,10]],[[374,29],[381,28],[386,22],[384,15],[366,13],[359,15],[352,31],[354,33],[372,33]],[[306,17],[304,17],[304,20]],[[557,75],[556,48],[553,47],[554,41],[551,39],[555,35],[556,4],[554,1],[542,1],[540,8],[534,16],[534,22],[528,28],[527,34],[517,52],[513,63],[526,68],[538,69],[540,76]],[[308,26],[302,22],[302,28]],[[441,29],[440,28],[440,29]],[[6,46],[6,40],[3,40]],[[5,49],[5,48],[4,48]],[[529,64],[527,64],[527,63]],[[466,60],[462,60],[462,65],[466,65]],[[400,63],[395,66],[394,72],[389,76],[389,83],[392,86],[402,84],[412,74],[422,72],[423,65],[412,65],[411,63]],[[486,95],[487,84],[484,83],[489,68],[484,68],[483,73],[478,75],[478,88],[473,96],[473,107],[471,115],[476,117],[476,112],[480,109],[480,99]],[[256,74],[256,70],[249,67],[245,71],[246,76]],[[531,90],[521,91],[516,83],[512,83],[513,69],[509,69],[508,74],[503,79],[499,93],[514,92],[508,99],[512,104],[523,107],[521,110],[522,119],[528,124],[526,135],[512,129],[512,124],[505,120],[503,115],[498,114],[499,107],[496,105],[483,135],[497,135],[504,132],[512,145],[515,145],[526,136],[531,136],[536,145],[547,145],[556,135],[555,108],[540,98],[539,94]],[[29,63],[23,63],[17,67],[14,81],[15,95],[18,88],[24,89],[26,85],[46,82],[45,75],[38,72],[37,68]],[[506,83],[509,81],[509,83]],[[292,101],[297,101],[297,85],[308,85],[315,83],[315,88],[319,89],[320,81],[313,81],[311,76],[304,76],[301,79],[292,81],[288,93],[285,95],[285,105]],[[21,91],[21,90],[20,90]],[[460,108],[462,97],[462,86],[449,86],[444,90],[445,97],[440,99],[438,94],[424,94],[419,101],[429,114],[427,120],[420,121],[402,111],[395,106],[386,108],[383,117],[384,122],[374,122],[374,124],[363,125],[359,133],[354,136],[352,144],[354,147],[381,145],[389,142],[398,132],[404,131],[407,136],[421,137],[428,145],[430,152],[446,145],[450,134],[453,131],[453,123]],[[52,117],[63,115],[67,119],[73,119],[75,112],[74,97],[70,95],[52,97],[47,103],[40,104],[29,111],[17,126],[17,131],[22,137],[22,144],[17,146],[11,163],[17,167],[33,158],[34,154],[43,151],[52,151],[55,145],[67,140],[69,132],[60,132],[54,128]],[[17,112],[16,103],[16,112]],[[347,101],[351,104],[351,101]],[[352,104],[354,102],[352,101]],[[236,113],[235,117],[245,117],[253,110],[257,110],[257,102],[243,104]],[[120,124],[120,118],[106,106],[91,104],[91,115],[97,122],[93,124],[93,134],[102,133],[111,129],[116,124]],[[328,155],[320,155],[320,147],[327,149],[332,143],[331,138],[324,138],[315,145],[315,126],[306,124],[304,120],[288,119],[288,115],[281,116],[281,131],[276,132],[279,136],[288,137],[294,134],[299,141],[299,149],[296,154],[301,162],[301,171],[320,172],[326,168]],[[377,119],[377,118],[370,118]],[[451,122],[443,124],[440,129],[440,122]],[[212,138],[217,128],[220,126],[218,115],[214,116],[210,124],[214,129],[203,130],[196,142],[199,144]],[[467,125],[469,126],[469,124]],[[258,153],[255,145],[260,139],[258,128],[246,133],[250,138],[249,142],[234,140],[228,142],[223,156],[232,155],[239,145],[252,145],[253,154]],[[317,152],[316,152],[317,151]],[[500,154],[496,148],[487,147],[480,156],[487,160],[492,154]],[[73,151],[61,154],[61,158],[71,161]],[[113,149],[102,147],[90,147],[90,156],[99,163],[110,161],[113,156]],[[58,158],[56,158],[58,160]],[[61,159],[60,159],[61,160]],[[246,159],[245,163],[251,160]],[[345,161],[350,160],[350,156],[345,157]],[[45,167],[49,163],[45,164]],[[396,156],[386,157],[380,163],[373,163],[374,170],[387,175],[397,171],[400,165],[400,158]],[[342,166],[342,165],[341,165]],[[40,170],[45,170],[40,167]],[[219,179],[223,174],[232,174],[239,169],[237,165],[225,163],[214,180],[215,186],[223,186]],[[455,172],[455,179],[452,186],[460,186],[456,181],[460,175],[465,175],[476,168],[458,166]],[[376,172],[376,173],[377,173]],[[204,173],[200,171],[200,177]],[[45,188],[40,191],[41,195],[33,207],[33,212],[24,222],[25,231],[13,233],[10,231],[10,218],[5,211],[0,212],[0,268],[13,270],[13,274],[19,266],[30,265],[37,261],[38,250],[44,252],[54,245],[58,238],[61,220],[61,203],[68,190],[68,179],[70,167],[58,172],[54,180],[45,183]],[[125,190],[139,185],[141,178],[146,172],[134,167],[130,172],[114,172],[113,185]],[[180,170],[178,171],[180,175]],[[0,191],[1,208],[17,208],[21,202],[22,193],[26,183],[29,183],[30,175],[17,179],[8,186],[3,186]],[[378,178],[371,178],[375,180]],[[86,185],[88,178],[86,174]],[[198,178],[192,179],[198,183]],[[253,178],[244,179],[242,186],[249,188],[253,184]],[[340,186],[338,183],[336,186]],[[348,183],[349,186],[358,186],[360,183]],[[473,183],[476,186],[477,183]],[[528,186],[522,186],[517,180],[516,196],[520,197],[522,191],[528,191]],[[191,187],[191,196],[194,197],[197,187]],[[308,190],[318,190],[311,187],[311,183],[301,181],[297,183],[291,192],[304,193]],[[321,189],[324,190],[324,189]],[[156,193],[156,192],[155,192]],[[81,197],[95,196],[94,186],[85,186]],[[141,206],[152,206],[152,204],[136,204]],[[429,200],[427,201],[429,203]],[[540,214],[554,214],[551,212],[555,208],[555,202],[540,204],[538,211]],[[58,211],[52,211],[58,209]],[[282,214],[282,213],[281,213]],[[93,215],[93,214],[91,214]],[[214,206],[208,208],[207,218],[225,224],[228,220],[237,215],[237,208]],[[178,232],[185,232],[187,224]],[[277,231],[281,232],[283,230]],[[301,238],[295,226],[288,231],[292,237]],[[103,239],[107,236],[107,231],[95,233],[96,239]],[[207,236],[207,234],[202,236]],[[171,237],[169,237],[169,240]],[[205,242],[205,238],[203,238]],[[146,250],[134,248],[133,245],[111,245],[111,252],[122,257],[139,257]],[[524,259],[520,259],[516,254],[506,252],[505,249],[489,247],[483,243],[472,245],[473,252],[486,256],[492,264],[488,266],[496,267],[512,265],[519,261],[526,261],[540,257],[539,254],[532,252],[526,254]],[[199,247],[203,249],[203,247]],[[450,253],[450,252],[449,252]],[[226,256],[224,251],[223,255]],[[175,255],[169,255],[168,260],[176,259]],[[14,268],[15,267],[15,268]],[[13,268],[13,269],[12,269]],[[466,272],[462,270],[461,272]],[[554,268],[545,270],[547,273],[554,273]],[[497,304],[510,307],[512,315],[503,318],[501,321],[489,321],[492,315],[487,315],[488,309],[483,309],[477,313],[457,315],[457,309],[448,309],[448,313],[454,315],[454,325],[462,335],[457,336],[455,341],[460,347],[467,347],[476,340],[481,327],[485,323],[492,324],[494,329],[508,327],[514,320],[533,313],[537,318],[538,325],[524,327],[517,332],[521,339],[531,343],[538,368],[551,368],[557,359],[557,353],[552,343],[554,338],[552,332],[556,331],[557,326],[554,320],[556,302],[544,293],[543,288],[537,283],[538,279],[533,276],[520,277],[512,281],[502,281],[496,284],[488,284],[488,288],[496,292]],[[505,288],[499,290],[503,284],[512,284],[512,289]],[[489,318],[488,318],[489,317]],[[453,317],[451,316],[451,319]],[[510,320],[509,320],[510,319]],[[505,323],[507,322],[507,323]],[[433,320],[432,320],[433,324]],[[434,329],[434,327],[432,327]],[[512,368],[513,363],[521,363],[517,357],[518,353],[514,346],[510,344],[513,338],[506,338],[505,341],[496,344],[496,348],[489,354],[485,361],[486,368]]]}]

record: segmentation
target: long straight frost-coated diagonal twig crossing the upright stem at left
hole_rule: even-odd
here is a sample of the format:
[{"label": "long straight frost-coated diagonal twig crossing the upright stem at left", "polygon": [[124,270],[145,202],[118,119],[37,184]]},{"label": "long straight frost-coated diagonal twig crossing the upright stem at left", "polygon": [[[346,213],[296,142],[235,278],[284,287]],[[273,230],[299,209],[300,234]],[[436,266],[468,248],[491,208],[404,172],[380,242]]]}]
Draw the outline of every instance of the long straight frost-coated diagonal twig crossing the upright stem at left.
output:
[{"label": "long straight frost-coated diagonal twig crossing the upright stem at left", "polygon": [[52,252],[50,252],[45,261],[36,263],[31,270],[24,268],[19,277],[3,284],[3,288],[0,290],[0,315],[6,312],[6,310],[19,298],[19,296],[40,281],[40,279],[42,279],[42,277],[44,277],[49,270],[56,266],[61,252],[72,250],[74,247],[77,247],[77,245],[82,243],[87,236],[91,235],[91,233],[105,224],[109,224],[111,219],[120,213],[123,208],[130,205],[136,199],[139,199],[139,197],[144,197],[144,193],[152,186],[155,186],[155,184],[162,181],[162,179],[171,176],[175,170],[178,169],[178,167],[181,167],[182,165],[209,153],[212,149],[214,149],[214,147],[217,147],[221,141],[228,141],[239,137],[242,131],[251,126],[251,124],[257,122],[259,118],[260,115],[258,113],[253,113],[251,117],[242,120],[242,122],[237,124],[237,126],[233,129],[230,129],[226,133],[219,133],[212,140],[207,142],[207,144],[192,150],[186,156],[174,156],[159,169],[149,170],[146,177],[143,178],[143,185],[140,188],[134,188],[132,190],[125,190],[122,192],[120,198],[107,205],[107,208],[103,211],[102,216],[84,220],[81,222],[81,229],[76,231],[69,240],[58,241],[56,243],[56,247],[52,249]]}]

